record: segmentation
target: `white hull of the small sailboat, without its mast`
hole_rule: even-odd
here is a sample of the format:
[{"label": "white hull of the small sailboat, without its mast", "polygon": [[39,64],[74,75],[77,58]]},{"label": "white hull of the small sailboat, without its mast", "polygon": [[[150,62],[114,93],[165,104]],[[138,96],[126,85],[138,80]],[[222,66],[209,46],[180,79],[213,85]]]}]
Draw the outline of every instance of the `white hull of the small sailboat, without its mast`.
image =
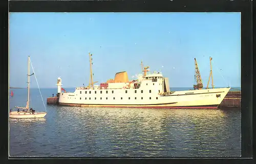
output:
[{"label": "white hull of the small sailboat, without its mast", "polygon": [[10,112],[9,118],[15,118],[15,119],[29,119],[29,118],[44,118],[47,115],[46,112],[35,112],[32,113],[26,113],[26,112]]}]

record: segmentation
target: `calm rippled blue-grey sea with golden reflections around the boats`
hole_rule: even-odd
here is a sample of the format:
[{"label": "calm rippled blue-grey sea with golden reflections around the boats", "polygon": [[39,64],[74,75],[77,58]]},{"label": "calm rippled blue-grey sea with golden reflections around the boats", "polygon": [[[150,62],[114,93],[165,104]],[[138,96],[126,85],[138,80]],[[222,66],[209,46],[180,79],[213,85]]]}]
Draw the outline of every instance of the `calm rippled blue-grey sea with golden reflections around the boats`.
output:
[{"label": "calm rippled blue-grey sea with golden reflections around the boats", "polygon": [[[26,89],[11,89],[10,108]],[[66,89],[73,92],[74,89]],[[172,89],[175,90],[175,89]],[[179,89],[176,89],[179,90]],[[41,89],[44,102],[57,89]],[[44,111],[38,89],[32,107]],[[240,156],[241,109],[88,108],[46,105],[43,119],[10,119],[10,156]]]}]

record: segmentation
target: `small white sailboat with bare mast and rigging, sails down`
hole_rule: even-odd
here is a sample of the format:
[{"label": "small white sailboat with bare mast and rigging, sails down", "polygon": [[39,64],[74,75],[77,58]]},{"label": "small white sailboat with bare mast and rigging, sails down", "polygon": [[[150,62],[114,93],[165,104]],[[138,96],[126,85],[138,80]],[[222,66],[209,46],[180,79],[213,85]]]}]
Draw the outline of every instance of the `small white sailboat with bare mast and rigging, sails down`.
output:
[{"label": "small white sailboat with bare mast and rigging, sails down", "polygon": [[[19,106],[15,106],[17,108],[17,111],[12,111],[10,110],[10,113],[9,113],[9,118],[44,118],[47,113],[46,112],[35,112],[35,110],[33,110],[33,108],[29,106],[29,96],[30,96],[30,76],[32,75],[35,75],[34,73],[30,74],[29,72],[29,68],[30,68],[30,56],[28,57],[28,100],[27,100],[27,105],[26,107],[19,107]],[[32,66],[32,64],[31,64]],[[32,69],[33,69],[33,66],[32,66]],[[33,69],[33,72],[34,72],[34,69]],[[36,78],[36,76],[35,76]],[[36,80],[37,82],[37,80]],[[38,86],[38,89],[39,89],[39,85],[37,83],[37,86]],[[39,89],[39,92],[40,92],[40,89]],[[41,95],[41,92],[40,92],[40,95]],[[41,95],[41,98],[42,98],[42,95]],[[43,101],[44,103],[44,101]],[[45,106],[45,104],[44,104]],[[20,111],[22,110],[22,111]],[[46,107],[45,107],[45,110],[46,110]]]}]

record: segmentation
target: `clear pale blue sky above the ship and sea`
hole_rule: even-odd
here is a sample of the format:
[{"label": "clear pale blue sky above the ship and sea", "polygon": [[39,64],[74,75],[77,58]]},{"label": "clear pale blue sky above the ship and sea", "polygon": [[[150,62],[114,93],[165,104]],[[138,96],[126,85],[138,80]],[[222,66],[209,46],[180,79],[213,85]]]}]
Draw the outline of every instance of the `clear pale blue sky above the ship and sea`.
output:
[{"label": "clear pale blue sky above the ship and sea", "polygon": [[170,87],[193,87],[197,58],[206,86],[211,56],[215,86],[241,87],[240,13],[10,13],[9,27],[11,87],[26,87],[28,56],[40,88],[59,76],[63,88],[88,85],[88,52],[94,81],[133,79],[143,60]]}]

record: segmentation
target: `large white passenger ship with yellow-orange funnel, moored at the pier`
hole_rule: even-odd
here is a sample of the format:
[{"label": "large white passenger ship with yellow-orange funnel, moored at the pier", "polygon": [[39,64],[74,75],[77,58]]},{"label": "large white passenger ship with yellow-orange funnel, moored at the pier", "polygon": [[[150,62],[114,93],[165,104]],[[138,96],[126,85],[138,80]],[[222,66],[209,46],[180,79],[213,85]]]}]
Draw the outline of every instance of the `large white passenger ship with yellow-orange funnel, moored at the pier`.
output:
[{"label": "large white passenger ship with yellow-orange funnel, moored at the pier", "polygon": [[[118,72],[114,79],[94,85],[92,73],[92,54],[90,56],[90,84],[78,87],[73,93],[62,92],[61,78],[57,79],[60,105],[88,107],[139,107],[139,108],[217,108],[230,87],[214,88],[212,71],[210,76],[212,89],[203,89],[201,76],[196,63],[197,85],[194,90],[175,91],[169,89],[169,80],[161,72],[147,73],[149,67],[143,67],[143,74],[137,80],[129,81],[127,72]],[[210,65],[211,65],[210,58]],[[208,81],[209,84],[209,81]]]}]

